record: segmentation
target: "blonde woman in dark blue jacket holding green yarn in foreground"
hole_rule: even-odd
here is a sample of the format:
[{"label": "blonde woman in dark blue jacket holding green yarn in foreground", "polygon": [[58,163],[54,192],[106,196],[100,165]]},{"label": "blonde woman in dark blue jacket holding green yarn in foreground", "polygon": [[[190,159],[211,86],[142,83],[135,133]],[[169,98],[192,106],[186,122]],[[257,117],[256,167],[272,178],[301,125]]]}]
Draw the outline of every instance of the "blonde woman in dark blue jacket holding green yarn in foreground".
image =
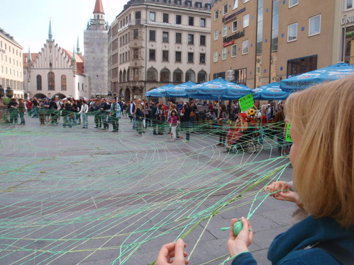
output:
[{"label": "blonde woman in dark blue jacket holding green yarn in foreground", "polygon": [[[311,106],[311,111],[309,111]],[[324,107],[326,106],[326,107]],[[268,250],[272,264],[353,264],[354,260],[354,75],[331,81],[287,99],[296,192],[279,192],[295,201],[310,216],[275,237]],[[313,119],[319,117],[331,119]],[[256,264],[249,245],[253,230],[244,217],[234,235],[232,219],[227,248],[232,264]],[[255,235],[257,236],[257,235]],[[188,264],[183,240],[162,247],[156,265],[171,257]],[[342,263],[346,259],[347,263]]]}]

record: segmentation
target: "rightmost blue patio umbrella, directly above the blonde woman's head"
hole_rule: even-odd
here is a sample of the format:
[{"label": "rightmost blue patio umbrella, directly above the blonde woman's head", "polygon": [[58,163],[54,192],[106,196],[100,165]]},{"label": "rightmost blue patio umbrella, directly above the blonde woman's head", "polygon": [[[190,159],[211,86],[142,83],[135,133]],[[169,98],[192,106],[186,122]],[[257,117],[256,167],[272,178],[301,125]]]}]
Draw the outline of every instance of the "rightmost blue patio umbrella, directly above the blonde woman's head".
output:
[{"label": "rightmost blue patio umbrella, directly above the blonde woman's head", "polygon": [[326,81],[334,81],[354,73],[352,64],[338,63],[280,81],[285,92],[296,92]]}]

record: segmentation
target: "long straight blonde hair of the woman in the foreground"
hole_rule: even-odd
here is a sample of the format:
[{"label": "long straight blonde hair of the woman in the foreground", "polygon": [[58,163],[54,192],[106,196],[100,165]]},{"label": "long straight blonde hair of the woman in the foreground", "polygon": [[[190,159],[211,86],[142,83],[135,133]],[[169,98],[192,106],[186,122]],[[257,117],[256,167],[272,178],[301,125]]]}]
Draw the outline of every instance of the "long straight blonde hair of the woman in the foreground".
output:
[{"label": "long straight blonde hair of the woman in the foreground", "polygon": [[285,105],[301,143],[293,180],[314,217],[354,225],[354,75],[290,95]]}]

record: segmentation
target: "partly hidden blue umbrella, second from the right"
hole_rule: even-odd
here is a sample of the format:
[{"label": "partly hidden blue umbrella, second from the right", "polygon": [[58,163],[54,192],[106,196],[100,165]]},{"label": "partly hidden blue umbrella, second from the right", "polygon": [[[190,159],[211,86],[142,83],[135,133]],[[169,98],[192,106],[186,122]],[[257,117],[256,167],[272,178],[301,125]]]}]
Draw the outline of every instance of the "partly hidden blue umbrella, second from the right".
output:
[{"label": "partly hidden blue umbrella, second from the right", "polygon": [[280,83],[273,82],[253,89],[253,98],[256,100],[285,100],[290,94],[280,89]]}]

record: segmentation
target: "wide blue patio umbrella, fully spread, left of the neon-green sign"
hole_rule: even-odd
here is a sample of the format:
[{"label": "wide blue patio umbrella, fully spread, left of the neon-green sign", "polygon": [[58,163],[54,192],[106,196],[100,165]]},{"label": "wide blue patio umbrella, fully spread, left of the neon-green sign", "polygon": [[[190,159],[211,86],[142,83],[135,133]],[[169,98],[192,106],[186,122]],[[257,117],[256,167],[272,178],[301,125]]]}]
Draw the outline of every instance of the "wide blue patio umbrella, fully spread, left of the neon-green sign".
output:
[{"label": "wide blue patio umbrella, fully spread, left of the neon-green sign", "polygon": [[205,100],[234,100],[242,98],[251,93],[252,89],[244,85],[237,85],[226,81],[224,78],[217,78],[212,81],[200,83],[192,88],[185,88],[190,98]]}]

